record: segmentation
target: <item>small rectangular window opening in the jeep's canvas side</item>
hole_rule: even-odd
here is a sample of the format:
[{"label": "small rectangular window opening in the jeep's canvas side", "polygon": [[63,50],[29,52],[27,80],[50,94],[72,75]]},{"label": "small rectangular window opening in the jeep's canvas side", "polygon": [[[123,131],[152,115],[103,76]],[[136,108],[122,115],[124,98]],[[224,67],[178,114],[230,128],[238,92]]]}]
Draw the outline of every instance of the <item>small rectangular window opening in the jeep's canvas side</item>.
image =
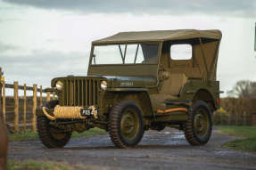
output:
[{"label": "small rectangular window opening in the jeep's canvas side", "polygon": [[175,61],[184,61],[192,59],[192,45],[171,45],[170,58]]}]

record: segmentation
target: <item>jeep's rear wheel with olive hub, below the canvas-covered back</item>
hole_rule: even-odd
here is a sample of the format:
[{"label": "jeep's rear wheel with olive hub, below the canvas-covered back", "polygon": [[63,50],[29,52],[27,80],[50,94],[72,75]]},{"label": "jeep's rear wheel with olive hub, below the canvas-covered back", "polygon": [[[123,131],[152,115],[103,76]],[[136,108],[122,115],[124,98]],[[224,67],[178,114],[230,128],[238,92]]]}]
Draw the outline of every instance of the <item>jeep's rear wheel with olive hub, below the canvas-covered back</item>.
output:
[{"label": "jeep's rear wheel with olive hub, below the canvas-covered back", "polygon": [[188,113],[184,134],[191,145],[206,144],[211,137],[211,109],[204,101],[195,101],[192,112]]}]

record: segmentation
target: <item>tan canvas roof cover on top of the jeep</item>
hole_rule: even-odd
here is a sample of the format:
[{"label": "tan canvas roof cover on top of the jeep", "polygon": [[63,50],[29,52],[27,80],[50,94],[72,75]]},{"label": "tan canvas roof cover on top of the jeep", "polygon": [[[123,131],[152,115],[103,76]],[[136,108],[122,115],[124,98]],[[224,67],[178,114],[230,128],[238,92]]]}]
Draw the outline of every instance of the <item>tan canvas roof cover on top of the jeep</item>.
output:
[{"label": "tan canvas roof cover on top of the jeep", "polygon": [[99,44],[124,44],[124,43],[146,43],[163,42],[168,40],[183,40],[195,37],[221,39],[221,32],[217,29],[196,30],[196,29],[178,29],[178,30],[155,30],[140,32],[120,32],[116,35],[99,39],[93,42]]}]

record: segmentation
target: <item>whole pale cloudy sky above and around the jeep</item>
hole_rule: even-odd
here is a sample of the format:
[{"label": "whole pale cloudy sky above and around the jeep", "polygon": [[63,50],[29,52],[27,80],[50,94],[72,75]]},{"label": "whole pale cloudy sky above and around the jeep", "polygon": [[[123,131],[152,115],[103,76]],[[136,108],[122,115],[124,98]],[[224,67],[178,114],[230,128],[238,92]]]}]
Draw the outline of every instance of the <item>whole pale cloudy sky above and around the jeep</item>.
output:
[{"label": "whole pale cloudy sky above and around the jeep", "polygon": [[6,83],[47,87],[54,77],[87,75],[93,40],[120,31],[219,29],[217,78],[227,92],[239,80],[256,81],[255,22],[255,0],[0,0],[0,67]]}]

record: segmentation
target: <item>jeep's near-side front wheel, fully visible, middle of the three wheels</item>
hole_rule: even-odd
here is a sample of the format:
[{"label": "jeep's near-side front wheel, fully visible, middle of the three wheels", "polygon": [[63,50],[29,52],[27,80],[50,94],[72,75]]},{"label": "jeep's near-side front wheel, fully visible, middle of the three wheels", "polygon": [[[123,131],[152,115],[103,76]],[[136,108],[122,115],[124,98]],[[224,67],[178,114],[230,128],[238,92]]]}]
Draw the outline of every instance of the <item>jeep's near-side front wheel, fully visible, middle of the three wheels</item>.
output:
[{"label": "jeep's near-side front wheel, fully visible, middle of the three wheels", "polygon": [[110,112],[110,137],[118,148],[135,147],[141,141],[145,127],[142,110],[134,101],[120,101]]}]

